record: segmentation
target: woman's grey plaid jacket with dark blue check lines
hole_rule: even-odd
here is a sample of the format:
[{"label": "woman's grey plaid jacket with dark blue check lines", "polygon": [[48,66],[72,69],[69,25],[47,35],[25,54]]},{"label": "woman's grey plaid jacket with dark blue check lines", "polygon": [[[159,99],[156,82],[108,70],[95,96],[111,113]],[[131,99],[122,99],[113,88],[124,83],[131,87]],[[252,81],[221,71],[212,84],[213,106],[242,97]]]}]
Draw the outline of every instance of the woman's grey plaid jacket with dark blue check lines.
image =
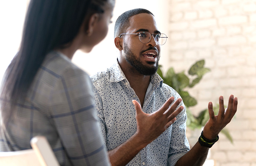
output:
[{"label": "woman's grey plaid jacket with dark blue check lines", "polygon": [[60,165],[110,165],[93,95],[89,76],[52,51],[8,121],[8,104],[1,108],[0,151],[31,148],[31,138],[44,135]]}]

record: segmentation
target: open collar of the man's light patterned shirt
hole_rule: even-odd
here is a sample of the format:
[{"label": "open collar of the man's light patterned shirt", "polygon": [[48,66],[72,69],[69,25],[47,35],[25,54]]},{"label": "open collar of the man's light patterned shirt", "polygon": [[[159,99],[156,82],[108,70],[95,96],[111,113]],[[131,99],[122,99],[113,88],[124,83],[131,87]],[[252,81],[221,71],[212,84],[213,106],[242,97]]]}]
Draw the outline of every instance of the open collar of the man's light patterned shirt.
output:
[{"label": "open collar of the man's light patterned shirt", "polygon": [[[115,64],[113,64],[110,67],[110,82],[119,82],[124,79],[127,80],[124,75],[124,72],[122,71],[122,69],[116,59]],[[128,80],[127,80],[127,82],[128,82]],[[155,88],[157,88],[157,87],[161,88],[163,86],[163,79],[157,73],[155,73],[151,76],[150,82],[153,84],[153,86]]]}]

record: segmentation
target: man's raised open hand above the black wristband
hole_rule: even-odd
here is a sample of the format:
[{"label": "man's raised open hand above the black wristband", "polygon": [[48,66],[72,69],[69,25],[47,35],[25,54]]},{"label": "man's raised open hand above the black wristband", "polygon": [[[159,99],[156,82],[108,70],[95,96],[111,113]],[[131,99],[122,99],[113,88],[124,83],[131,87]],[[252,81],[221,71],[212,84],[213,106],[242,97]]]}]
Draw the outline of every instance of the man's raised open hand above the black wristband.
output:
[{"label": "man's raised open hand above the black wristband", "polygon": [[223,96],[219,98],[220,109],[217,116],[214,115],[212,102],[208,104],[210,119],[204,126],[204,137],[208,140],[216,139],[219,132],[231,121],[237,109],[237,98],[230,95],[228,100],[228,108],[225,110]]}]

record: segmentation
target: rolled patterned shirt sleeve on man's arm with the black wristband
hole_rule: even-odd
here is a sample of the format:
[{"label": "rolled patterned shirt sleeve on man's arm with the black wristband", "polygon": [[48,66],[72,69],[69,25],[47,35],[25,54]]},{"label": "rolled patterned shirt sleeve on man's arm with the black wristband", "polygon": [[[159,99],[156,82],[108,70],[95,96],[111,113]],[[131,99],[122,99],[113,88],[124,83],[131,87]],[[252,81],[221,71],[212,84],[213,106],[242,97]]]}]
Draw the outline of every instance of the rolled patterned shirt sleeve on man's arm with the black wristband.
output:
[{"label": "rolled patterned shirt sleeve on man's arm with the black wristband", "polygon": [[[177,100],[180,98],[180,95],[175,91],[174,97],[175,100]],[[176,117],[177,120],[175,123],[172,124],[172,137],[168,155],[168,166],[174,166],[180,157],[185,155],[190,150],[188,139],[186,137],[186,107],[183,102],[181,102],[180,105],[182,105],[184,109]]]}]

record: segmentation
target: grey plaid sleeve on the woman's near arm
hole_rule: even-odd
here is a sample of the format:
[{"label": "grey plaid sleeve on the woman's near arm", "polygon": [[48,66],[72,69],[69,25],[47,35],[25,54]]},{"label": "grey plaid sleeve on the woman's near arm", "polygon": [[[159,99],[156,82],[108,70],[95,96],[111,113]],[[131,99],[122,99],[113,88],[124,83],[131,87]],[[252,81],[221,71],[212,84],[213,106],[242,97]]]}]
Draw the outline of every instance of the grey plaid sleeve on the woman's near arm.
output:
[{"label": "grey plaid sleeve on the woman's near arm", "polygon": [[50,98],[50,116],[72,165],[110,165],[95,113],[92,83],[80,69],[68,69]]}]

